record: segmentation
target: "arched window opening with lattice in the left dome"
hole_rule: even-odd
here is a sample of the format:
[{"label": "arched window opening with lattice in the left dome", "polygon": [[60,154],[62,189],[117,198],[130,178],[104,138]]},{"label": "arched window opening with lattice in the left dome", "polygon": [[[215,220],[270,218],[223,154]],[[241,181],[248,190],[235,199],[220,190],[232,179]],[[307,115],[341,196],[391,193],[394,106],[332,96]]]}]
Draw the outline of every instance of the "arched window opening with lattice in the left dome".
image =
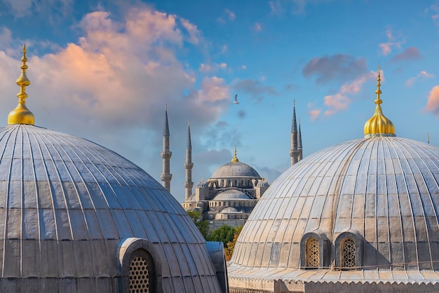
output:
[{"label": "arched window opening with lattice in the left dome", "polygon": [[130,262],[130,293],[149,293],[154,290],[154,267],[151,256],[135,252]]}]

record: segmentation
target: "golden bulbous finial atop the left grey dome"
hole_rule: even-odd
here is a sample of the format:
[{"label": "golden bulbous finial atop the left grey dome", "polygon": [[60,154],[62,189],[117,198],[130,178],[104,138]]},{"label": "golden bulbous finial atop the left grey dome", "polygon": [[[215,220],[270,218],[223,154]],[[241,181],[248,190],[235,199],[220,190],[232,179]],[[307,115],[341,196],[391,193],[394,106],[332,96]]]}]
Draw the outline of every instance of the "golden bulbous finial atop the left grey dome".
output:
[{"label": "golden bulbous finial atop the left grey dome", "polygon": [[17,94],[18,105],[9,113],[8,124],[30,124],[34,125],[35,118],[29,109],[26,107],[26,87],[30,85],[29,79],[26,76],[27,69],[27,59],[26,59],[26,46],[23,44],[23,56],[21,58],[21,74],[20,77],[15,81],[18,86],[20,86],[20,93]]}]

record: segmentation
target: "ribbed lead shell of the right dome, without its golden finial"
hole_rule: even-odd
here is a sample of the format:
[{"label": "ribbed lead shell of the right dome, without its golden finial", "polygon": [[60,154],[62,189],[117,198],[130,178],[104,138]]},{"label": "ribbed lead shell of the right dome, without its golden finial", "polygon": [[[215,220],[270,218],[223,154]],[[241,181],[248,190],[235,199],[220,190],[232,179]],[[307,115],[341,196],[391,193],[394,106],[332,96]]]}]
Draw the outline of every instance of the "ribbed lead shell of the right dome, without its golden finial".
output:
[{"label": "ribbed lead shell of the right dome, without its golden finial", "polygon": [[[331,243],[317,264],[325,271],[330,264],[343,266],[337,239],[348,234],[358,244],[351,247],[361,260],[356,268],[439,269],[438,209],[438,147],[398,137],[338,144],[304,158],[271,184],[243,227],[229,275],[279,268],[281,278],[283,268],[288,278],[288,270],[306,266],[301,241],[311,233],[320,245]],[[325,278],[316,275],[303,278]],[[332,276],[339,280],[337,272]]]}]

